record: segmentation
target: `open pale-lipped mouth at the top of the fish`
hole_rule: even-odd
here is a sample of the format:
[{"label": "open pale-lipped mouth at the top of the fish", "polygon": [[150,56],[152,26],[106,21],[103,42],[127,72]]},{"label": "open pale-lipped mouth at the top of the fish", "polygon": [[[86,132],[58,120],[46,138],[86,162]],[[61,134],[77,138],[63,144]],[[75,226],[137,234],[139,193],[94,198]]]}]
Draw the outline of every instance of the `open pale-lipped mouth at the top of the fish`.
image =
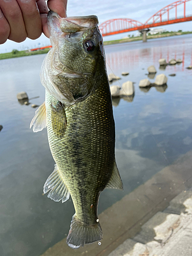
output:
[{"label": "open pale-lipped mouth at the top of the fish", "polygon": [[57,28],[63,33],[86,31],[99,24],[96,15],[61,18],[56,12],[49,11],[48,20],[50,19],[54,19]]}]

